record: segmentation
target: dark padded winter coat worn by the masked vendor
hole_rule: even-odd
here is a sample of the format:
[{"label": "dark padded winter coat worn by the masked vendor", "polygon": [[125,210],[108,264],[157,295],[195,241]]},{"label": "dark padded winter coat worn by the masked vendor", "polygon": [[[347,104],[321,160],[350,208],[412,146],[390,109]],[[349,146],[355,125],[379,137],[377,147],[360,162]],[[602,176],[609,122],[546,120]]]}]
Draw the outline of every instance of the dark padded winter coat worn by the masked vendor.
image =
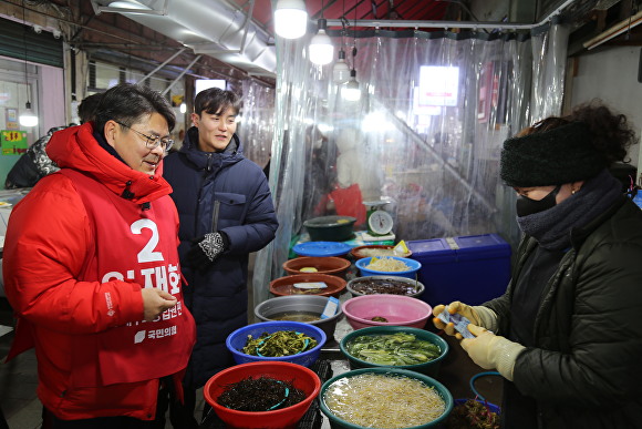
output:
[{"label": "dark padded winter coat worn by the masked vendor", "polygon": [[[538,428],[642,427],[642,211],[623,200],[571,233],[572,248],[542,293],[537,346],[517,357],[514,384],[536,401]],[[506,294],[484,304],[497,313],[499,335],[536,247],[532,237],[520,243]]]}]

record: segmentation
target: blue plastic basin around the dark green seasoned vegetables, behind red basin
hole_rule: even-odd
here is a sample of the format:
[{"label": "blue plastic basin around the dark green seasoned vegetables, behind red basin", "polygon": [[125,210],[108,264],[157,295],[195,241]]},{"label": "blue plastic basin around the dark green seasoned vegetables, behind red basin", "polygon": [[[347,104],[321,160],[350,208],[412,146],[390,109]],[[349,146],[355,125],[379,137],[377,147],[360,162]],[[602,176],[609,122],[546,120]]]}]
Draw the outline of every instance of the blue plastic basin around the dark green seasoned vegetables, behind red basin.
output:
[{"label": "blue plastic basin around the dark green seasoned vegetables, behind red basin", "polygon": [[[306,344],[296,344],[296,347],[292,347],[292,350],[294,351],[293,355],[277,357],[247,355],[241,351],[248,341],[248,335],[251,335],[252,338],[257,339],[265,333],[275,334],[278,331],[294,331],[298,334],[300,333],[307,335],[308,337],[314,338],[317,340],[317,346],[309,348],[306,351],[299,353],[297,350],[303,349]],[[318,328],[314,325],[304,324],[302,321],[275,320],[260,321],[258,324],[244,326],[242,328],[239,328],[228,335],[227,339],[225,340],[225,345],[232,354],[234,360],[237,364],[255,361],[282,361],[309,367],[314,364],[317,359],[319,359],[321,347],[325,343],[325,333],[323,333],[321,328]],[[265,353],[265,355],[267,355],[267,353]]]}]

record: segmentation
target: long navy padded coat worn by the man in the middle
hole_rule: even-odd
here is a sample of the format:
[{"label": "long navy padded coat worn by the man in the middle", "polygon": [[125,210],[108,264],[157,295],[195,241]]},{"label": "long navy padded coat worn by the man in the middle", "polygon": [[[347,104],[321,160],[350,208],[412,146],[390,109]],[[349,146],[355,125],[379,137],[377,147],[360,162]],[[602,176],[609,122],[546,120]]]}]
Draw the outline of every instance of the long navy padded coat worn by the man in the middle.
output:
[{"label": "long navy padded coat worn by the man in the middle", "polygon": [[205,273],[183,267],[185,302],[198,330],[185,385],[198,388],[234,365],[225,340],[248,323],[248,256],[275,238],[279,224],[266,176],[242,155],[236,134],[225,152],[203,152],[193,126],[164,168],[180,218],[180,258],[193,239],[213,231],[225,232],[230,243]]}]

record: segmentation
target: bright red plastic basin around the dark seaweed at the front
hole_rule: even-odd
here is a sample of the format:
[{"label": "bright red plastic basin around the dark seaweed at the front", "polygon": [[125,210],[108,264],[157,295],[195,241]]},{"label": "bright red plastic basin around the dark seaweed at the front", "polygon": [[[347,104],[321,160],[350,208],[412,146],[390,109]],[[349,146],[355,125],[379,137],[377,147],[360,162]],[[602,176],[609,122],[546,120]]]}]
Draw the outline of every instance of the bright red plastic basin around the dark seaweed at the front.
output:
[{"label": "bright red plastic basin around the dark seaweed at the front", "polygon": [[[268,377],[288,381],[306,394],[306,399],[293,406],[271,411],[238,411],[217,402],[218,397],[228,385],[239,382],[248,377],[253,379]],[[321,380],[312,370],[290,362],[262,361],[237,365],[211,377],[203,389],[205,400],[214,408],[228,428],[296,428],[303,418],[312,400],[319,395]]]}]

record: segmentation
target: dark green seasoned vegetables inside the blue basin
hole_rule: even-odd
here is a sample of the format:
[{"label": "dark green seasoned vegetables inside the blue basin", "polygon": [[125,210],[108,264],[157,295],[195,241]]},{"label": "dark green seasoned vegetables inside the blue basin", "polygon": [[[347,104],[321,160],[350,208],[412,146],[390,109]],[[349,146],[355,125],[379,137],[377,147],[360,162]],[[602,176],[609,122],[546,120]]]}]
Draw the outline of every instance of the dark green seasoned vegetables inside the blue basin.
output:
[{"label": "dark green seasoned vegetables inside the blue basin", "polygon": [[258,338],[248,335],[246,346],[240,350],[246,355],[280,357],[298,355],[317,347],[317,340],[294,330],[263,333]]}]

